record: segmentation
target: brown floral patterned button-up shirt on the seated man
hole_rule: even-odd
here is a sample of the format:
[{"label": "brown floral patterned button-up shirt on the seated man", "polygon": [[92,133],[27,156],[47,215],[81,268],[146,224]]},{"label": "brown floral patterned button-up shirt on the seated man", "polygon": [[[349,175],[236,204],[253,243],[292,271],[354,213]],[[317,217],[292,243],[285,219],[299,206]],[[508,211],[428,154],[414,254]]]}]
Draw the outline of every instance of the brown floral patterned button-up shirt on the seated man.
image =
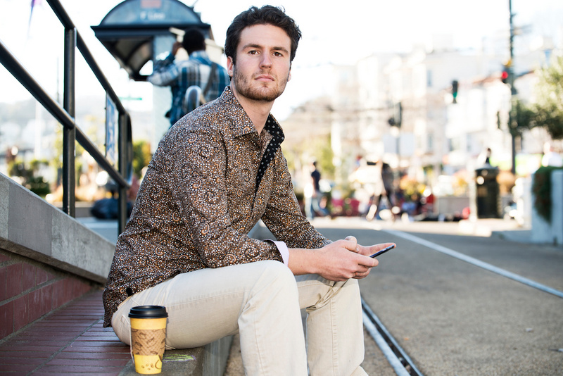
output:
[{"label": "brown floral patterned button-up shirt on the seated man", "polygon": [[170,128],[118,238],[104,326],[127,296],[180,273],[282,261],[273,242],[248,237],[260,219],[290,248],[330,243],[301,213],[283,138],[272,115],[258,134],[229,87]]}]

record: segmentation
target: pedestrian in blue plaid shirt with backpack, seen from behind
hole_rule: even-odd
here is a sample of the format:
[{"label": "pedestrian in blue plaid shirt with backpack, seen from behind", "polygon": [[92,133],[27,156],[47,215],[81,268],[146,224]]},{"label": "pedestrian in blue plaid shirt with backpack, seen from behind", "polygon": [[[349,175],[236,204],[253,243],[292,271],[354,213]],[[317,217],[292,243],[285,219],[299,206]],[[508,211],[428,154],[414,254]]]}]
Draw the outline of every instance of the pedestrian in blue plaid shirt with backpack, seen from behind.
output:
[{"label": "pedestrian in blue plaid shirt with backpack, seen from behind", "polygon": [[[187,51],[187,60],[176,59],[180,47]],[[182,42],[172,45],[172,51],[166,58],[156,61],[153,74],[147,80],[157,86],[170,86],[172,89],[172,107],[167,113],[172,126],[194,107],[220,96],[230,79],[227,70],[211,61],[205,52],[203,33],[191,28],[185,30]],[[195,93],[197,99],[191,106],[186,101],[190,92]]]}]

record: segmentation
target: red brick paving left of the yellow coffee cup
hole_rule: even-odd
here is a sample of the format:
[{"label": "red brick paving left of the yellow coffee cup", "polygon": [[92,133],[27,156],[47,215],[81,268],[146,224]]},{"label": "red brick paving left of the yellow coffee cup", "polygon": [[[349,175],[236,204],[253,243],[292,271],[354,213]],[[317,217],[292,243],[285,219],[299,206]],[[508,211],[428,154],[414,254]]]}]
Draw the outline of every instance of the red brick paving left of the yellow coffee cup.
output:
[{"label": "red brick paving left of the yellow coffee cup", "polygon": [[6,375],[119,375],[131,356],[103,328],[101,291],[90,292],[0,344]]}]

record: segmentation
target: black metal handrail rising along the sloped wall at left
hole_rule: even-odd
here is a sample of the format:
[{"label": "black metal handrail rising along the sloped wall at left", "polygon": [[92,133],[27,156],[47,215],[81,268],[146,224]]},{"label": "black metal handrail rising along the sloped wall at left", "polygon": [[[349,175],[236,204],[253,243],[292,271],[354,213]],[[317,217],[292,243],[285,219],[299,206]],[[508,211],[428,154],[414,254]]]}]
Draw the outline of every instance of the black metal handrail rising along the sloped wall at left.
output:
[{"label": "black metal handrail rising along the sloped wall at left", "polygon": [[[86,150],[92,158],[106,170],[108,175],[118,184],[118,232],[125,229],[127,220],[127,189],[131,180],[132,160],[131,118],[120,99],[113,91],[110,83],[103,75],[99,65],[87,48],[86,43],[77,32],[59,0],[47,0],[53,12],[65,27],[65,61],[64,61],[64,99],[63,107],[54,101],[43,87],[30,75],[15,56],[0,40],[0,63],[10,72],[23,87],[44,108],[63,125],[63,211],[75,216],[75,141]],[[113,101],[118,111],[118,170],[99,151],[97,146],[76,127],[75,122],[75,50],[78,49],[91,71],[100,82],[106,95]]]}]

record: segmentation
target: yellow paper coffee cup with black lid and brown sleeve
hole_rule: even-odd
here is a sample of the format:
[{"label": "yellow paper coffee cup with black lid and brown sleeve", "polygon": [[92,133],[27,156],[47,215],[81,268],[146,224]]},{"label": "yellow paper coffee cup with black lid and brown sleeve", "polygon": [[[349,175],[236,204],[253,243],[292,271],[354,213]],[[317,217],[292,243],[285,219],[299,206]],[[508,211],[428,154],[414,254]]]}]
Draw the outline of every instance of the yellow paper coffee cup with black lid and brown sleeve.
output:
[{"label": "yellow paper coffee cup with black lid and brown sleeve", "polygon": [[167,317],[163,306],[137,306],[129,311],[131,353],[137,373],[162,371]]}]

